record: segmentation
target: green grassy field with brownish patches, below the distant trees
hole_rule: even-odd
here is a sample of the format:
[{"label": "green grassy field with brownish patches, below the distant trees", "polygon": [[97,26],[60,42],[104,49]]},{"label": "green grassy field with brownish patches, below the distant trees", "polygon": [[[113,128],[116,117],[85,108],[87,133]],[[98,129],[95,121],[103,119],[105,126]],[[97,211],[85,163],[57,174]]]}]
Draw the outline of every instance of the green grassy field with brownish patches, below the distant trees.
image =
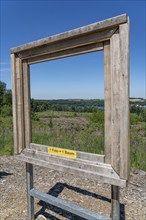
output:
[{"label": "green grassy field with brownish patches, below the distant trees", "polygon": [[[146,171],[146,122],[130,114],[131,168]],[[104,154],[104,111],[32,113],[32,142]],[[13,154],[12,117],[0,117],[0,155]]]}]

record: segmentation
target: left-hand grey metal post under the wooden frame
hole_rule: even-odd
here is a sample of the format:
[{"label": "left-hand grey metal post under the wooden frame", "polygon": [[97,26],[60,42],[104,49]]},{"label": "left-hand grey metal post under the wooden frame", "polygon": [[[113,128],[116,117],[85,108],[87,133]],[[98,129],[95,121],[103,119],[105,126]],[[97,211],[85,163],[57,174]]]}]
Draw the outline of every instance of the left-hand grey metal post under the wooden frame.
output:
[{"label": "left-hand grey metal post under the wooden frame", "polygon": [[26,178],[28,219],[34,220],[34,198],[30,196],[30,190],[33,189],[33,165],[30,163],[26,163]]}]

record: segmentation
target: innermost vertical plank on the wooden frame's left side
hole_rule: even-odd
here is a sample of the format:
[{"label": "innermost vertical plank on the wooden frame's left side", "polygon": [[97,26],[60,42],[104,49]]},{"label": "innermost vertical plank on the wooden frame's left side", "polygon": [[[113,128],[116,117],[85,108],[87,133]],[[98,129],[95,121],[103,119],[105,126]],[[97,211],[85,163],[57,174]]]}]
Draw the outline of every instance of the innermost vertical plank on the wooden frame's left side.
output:
[{"label": "innermost vertical plank on the wooden frame's left side", "polygon": [[30,70],[27,62],[23,61],[23,88],[24,88],[24,120],[25,120],[25,147],[31,142],[30,125]]}]

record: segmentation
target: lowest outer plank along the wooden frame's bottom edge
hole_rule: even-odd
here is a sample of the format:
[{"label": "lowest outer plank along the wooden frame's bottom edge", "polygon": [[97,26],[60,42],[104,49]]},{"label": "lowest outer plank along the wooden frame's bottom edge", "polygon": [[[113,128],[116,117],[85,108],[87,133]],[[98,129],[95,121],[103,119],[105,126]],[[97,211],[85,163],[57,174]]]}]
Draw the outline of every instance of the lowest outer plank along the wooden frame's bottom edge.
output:
[{"label": "lowest outer plank along the wooden frame's bottom edge", "polygon": [[[21,161],[24,161],[27,163],[31,163],[34,165],[48,167],[53,170],[78,175],[78,176],[81,176],[82,178],[95,179],[101,183],[109,183],[109,184],[121,186],[121,187],[126,186],[125,180],[120,179],[118,175],[117,175],[117,178],[115,178],[115,177],[111,176],[111,173],[109,173],[109,175],[106,176],[103,173],[100,174],[98,172],[93,172],[93,171],[84,170],[84,169],[80,169],[80,168],[74,168],[71,166],[65,166],[65,165],[61,165],[58,163],[49,163],[48,161],[39,160],[39,159],[35,159],[33,157],[25,156],[23,153],[21,153],[21,155],[17,156],[16,158],[18,160],[21,160]],[[105,168],[105,170],[106,170],[106,168]],[[113,172],[114,172],[114,170],[113,170]]]}]

